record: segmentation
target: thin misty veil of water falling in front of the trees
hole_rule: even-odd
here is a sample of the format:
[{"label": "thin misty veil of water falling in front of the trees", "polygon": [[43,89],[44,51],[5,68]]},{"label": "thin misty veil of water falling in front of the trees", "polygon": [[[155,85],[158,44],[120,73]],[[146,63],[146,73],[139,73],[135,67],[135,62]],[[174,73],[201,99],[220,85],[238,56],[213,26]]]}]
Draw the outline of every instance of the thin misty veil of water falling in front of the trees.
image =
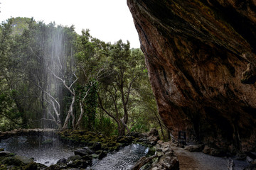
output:
[{"label": "thin misty veil of water falling in front of the trees", "polygon": [[[46,87],[46,109],[43,114],[42,128],[58,128],[60,113],[63,113],[63,81],[70,81],[72,75],[68,75],[67,65],[72,67],[72,47],[65,42],[65,29],[62,26],[53,27],[46,43],[44,55]],[[69,62],[69,63],[68,63]],[[59,115],[58,115],[59,114]]]}]

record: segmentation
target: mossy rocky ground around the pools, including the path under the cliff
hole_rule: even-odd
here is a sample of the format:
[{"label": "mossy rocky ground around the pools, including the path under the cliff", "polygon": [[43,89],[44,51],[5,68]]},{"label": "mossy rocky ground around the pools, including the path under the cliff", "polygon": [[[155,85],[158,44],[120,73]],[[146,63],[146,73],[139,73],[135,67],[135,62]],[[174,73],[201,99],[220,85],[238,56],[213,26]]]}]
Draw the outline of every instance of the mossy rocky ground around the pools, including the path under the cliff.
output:
[{"label": "mossy rocky ground around the pools, including the path under the cliff", "polygon": [[[31,133],[31,132],[29,132]],[[21,134],[21,132],[18,132]],[[14,135],[13,132],[2,133],[2,137]],[[207,145],[179,146],[172,142],[159,140],[157,130],[144,134],[130,134],[124,137],[105,137],[102,134],[84,131],[63,131],[60,137],[70,142],[79,142],[87,147],[75,150],[75,156],[60,159],[57,164],[47,167],[33,162],[33,159],[19,157],[0,149],[1,169],[85,169],[92,164],[92,159],[102,159],[108,152],[119,147],[137,142],[151,146],[149,157],[142,157],[132,170],[255,170],[255,153],[241,154],[236,157],[223,155],[218,149]],[[154,146],[154,147],[153,147]],[[211,155],[210,155],[211,154]],[[221,157],[215,157],[215,156]]]}]

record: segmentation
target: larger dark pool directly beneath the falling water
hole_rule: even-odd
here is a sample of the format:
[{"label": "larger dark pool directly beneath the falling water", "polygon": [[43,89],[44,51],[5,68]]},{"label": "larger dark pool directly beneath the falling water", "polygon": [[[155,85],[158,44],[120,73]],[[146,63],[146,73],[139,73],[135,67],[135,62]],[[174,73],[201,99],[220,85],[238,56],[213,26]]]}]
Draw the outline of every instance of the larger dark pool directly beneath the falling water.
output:
[{"label": "larger dark pool directly beneath the falling water", "polygon": [[61,142],[56,135],[55,137],[22,135],[0,141],[0,148],[24,157],[34,158],[35,162],[46,164],[46,166],[55,164],[59,159],[73,156],[75,147],[77,146]]}]

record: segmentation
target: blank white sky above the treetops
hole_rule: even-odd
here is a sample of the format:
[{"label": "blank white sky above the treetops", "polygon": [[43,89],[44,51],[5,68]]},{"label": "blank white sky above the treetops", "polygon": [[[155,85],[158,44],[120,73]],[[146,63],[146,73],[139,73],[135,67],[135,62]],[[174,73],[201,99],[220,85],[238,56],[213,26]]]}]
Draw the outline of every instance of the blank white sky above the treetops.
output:
[{"label": "blank white sky above the treetops", "polygon": [[46,24],[55,21],[75,25],[77,33],[90,34],[105,42],[129,40],[139,47],[139,37],[126,0],[0,0],[0,22],[12,17],[33,17]]}]

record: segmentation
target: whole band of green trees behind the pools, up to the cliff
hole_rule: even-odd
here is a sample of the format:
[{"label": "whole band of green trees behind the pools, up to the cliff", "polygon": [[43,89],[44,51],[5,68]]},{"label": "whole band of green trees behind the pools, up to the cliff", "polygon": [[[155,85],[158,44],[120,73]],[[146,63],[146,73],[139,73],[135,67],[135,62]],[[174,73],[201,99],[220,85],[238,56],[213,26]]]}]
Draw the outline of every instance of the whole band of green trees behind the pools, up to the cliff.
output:
[{"label": "whole band of green trees behind the pools, up to the cliff", "polygon": [[0,130],[126,135],[164,127],[139,49],[89,30],[10,18],[0,25]]}]

